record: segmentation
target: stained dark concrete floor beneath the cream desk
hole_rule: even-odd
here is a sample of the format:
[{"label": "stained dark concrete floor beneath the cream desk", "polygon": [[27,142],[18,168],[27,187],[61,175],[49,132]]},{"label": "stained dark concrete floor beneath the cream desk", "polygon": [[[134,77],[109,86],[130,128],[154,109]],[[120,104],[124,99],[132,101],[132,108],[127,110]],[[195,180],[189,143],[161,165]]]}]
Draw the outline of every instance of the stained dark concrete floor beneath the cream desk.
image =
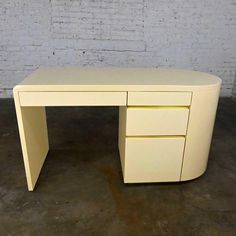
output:
[{"label": "stained dark concrete floor beneath the cream desk", "polygon": [[0,235],[236,235],[236,102],[220,101],[207,172],[170,184],[123,184],[117,108],[47,114],[50,152],[28,192],[13,101],[0,100]]}]

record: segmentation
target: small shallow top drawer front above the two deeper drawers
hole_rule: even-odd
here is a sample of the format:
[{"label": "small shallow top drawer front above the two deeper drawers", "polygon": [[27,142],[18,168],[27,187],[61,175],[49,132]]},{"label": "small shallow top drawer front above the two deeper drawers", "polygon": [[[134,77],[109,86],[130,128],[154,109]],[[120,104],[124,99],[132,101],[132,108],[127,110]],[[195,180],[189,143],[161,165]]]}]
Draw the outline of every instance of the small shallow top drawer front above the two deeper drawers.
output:
[{"label": "small shallow top drawer front above the two deeper drawers", "polygon": [[129,106],[189,106],[191,92],[129,92]]}]

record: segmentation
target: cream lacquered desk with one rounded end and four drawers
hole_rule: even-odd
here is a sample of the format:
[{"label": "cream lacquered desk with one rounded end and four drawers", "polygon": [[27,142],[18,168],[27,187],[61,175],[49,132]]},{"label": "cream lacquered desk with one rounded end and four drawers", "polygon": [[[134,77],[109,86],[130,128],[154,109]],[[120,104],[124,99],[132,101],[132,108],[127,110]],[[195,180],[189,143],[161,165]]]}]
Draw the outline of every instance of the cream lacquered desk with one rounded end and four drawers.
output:
[{"label": "cream lacquered desk with one rounded end and four drawers", "polygon": [[49,145],[46,106],[119,106],[125,183],[194,179],[207,167],[221,80],[184,70],[42,68],[14,87],[28,190]]}]

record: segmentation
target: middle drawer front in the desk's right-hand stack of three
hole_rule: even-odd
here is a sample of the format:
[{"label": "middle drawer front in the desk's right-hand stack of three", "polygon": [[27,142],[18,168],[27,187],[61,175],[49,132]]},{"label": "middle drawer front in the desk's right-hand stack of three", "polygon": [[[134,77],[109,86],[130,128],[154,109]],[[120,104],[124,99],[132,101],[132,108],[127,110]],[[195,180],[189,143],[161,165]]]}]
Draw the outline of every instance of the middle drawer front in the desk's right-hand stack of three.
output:
[{"label": "middle drawer front in the desk's right-hand stack of three", "polygon": [[128,108],[126,135],[185,135],[188,115],[188,108]]}]

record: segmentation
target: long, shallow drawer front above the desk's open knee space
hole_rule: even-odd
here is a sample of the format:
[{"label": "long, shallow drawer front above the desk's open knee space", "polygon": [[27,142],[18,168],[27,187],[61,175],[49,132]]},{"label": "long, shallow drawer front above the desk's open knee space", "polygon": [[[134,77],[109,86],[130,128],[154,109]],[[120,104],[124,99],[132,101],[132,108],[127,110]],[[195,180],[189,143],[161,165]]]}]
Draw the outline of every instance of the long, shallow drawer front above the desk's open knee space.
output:
[{"label": "long, shallow drawer front above the desk's open knee space", "polygon": [[20,92],[21,106],[125,106],[126,92]]}]

